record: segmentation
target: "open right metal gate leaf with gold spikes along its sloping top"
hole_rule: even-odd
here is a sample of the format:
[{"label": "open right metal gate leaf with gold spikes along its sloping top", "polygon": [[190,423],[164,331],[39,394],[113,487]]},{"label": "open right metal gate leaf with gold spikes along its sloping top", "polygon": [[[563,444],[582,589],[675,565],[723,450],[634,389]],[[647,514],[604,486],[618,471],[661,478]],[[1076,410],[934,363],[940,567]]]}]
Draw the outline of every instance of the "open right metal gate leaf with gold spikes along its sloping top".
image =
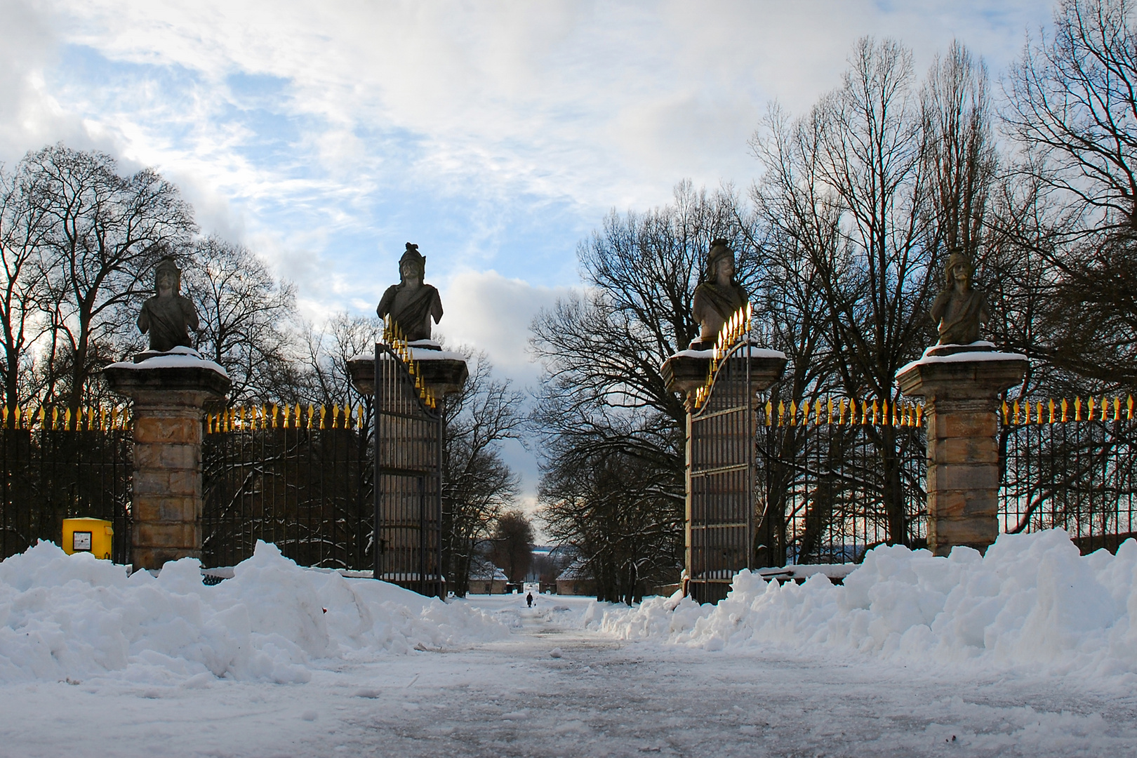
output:
[{"label": "open right metal gate leaf with gold spikes along its sloping top", "polygon": [[688,416],[687,592],[699,602],[727,597],[735,574],[752,568],[757,401],[749,340],[712,361],[707,392]]}]

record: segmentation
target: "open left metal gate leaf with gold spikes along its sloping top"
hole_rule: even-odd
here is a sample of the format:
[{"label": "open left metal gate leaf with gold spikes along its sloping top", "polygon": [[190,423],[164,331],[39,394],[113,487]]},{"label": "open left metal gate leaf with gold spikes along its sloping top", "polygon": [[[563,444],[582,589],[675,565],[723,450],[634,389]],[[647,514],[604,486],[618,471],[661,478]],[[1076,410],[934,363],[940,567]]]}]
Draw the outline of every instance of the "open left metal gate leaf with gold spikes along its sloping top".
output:
[{"label": "open left metal gate leaf with gold spikes along its sloping top", "polygon": [[406,342],[375,344],[375,578],[446,597],[442,414]]}]

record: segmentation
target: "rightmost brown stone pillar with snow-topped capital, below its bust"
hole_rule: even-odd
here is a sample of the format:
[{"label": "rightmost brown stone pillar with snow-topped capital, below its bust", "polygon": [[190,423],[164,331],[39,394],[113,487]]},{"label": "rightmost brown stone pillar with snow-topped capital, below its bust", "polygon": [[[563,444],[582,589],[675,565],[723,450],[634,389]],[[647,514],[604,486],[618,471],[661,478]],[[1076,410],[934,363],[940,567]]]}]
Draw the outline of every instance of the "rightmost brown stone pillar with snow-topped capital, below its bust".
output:
[{"label": "rightmost brown stone pillar with snow-topped capital, below its bust", "polygon": [[928,422],[928,549],[980,552],[998,536],[999,393],[1022,381],[1026,356],[935,353],[896,374],[906,395],[924,399]]}]

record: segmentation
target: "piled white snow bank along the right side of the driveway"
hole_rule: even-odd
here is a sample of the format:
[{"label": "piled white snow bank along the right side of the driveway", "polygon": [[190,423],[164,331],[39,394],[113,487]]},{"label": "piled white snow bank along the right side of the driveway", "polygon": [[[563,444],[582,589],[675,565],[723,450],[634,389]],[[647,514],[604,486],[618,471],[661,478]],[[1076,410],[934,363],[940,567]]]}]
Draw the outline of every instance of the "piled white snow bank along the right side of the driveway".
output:
[{"label": "piled white snow bank along the right side of the driveway", "polygon": [[594,605],[589,627],[730,650],[830,648],[939,661],[1029,665],[1049,673],[1137,673],[1137,542],[1081,557],[1062,530],[1001,534],[986,556],[880,547],[843,586],[741,572],[728,598]]}]

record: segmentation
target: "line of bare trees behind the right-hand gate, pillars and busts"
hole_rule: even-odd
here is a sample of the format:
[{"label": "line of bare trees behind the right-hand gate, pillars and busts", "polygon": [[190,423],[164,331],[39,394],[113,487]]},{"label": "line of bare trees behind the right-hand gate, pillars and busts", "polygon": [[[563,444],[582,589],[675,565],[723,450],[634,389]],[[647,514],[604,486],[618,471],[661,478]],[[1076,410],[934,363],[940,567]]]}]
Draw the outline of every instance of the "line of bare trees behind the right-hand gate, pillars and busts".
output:
[{"label": "line of bare trees behind the right-hand gate, pillars and busts", "polygon": [[[713,239],[736,250],[757,336],[789,357],[775,403],[894,406],[896,370],[937,339],[929,309],[956,250],[988,291],[987,339],[1031,358],[1012,394],[1137,390],[1128,0],[1060,3],[1001,86],[960,42],[921,76],[901,42],[862,39],[833,90],[797,116],[771,105],[749,148],[760,177],[742,191],[684,181],[664,206],[613,211],[578,248],[586,289],[532,324],[542,516],[603,599],[679,576],[686,416],[659,367],[696,335]],[[904,535],[902,441],[868,433]]]}]

